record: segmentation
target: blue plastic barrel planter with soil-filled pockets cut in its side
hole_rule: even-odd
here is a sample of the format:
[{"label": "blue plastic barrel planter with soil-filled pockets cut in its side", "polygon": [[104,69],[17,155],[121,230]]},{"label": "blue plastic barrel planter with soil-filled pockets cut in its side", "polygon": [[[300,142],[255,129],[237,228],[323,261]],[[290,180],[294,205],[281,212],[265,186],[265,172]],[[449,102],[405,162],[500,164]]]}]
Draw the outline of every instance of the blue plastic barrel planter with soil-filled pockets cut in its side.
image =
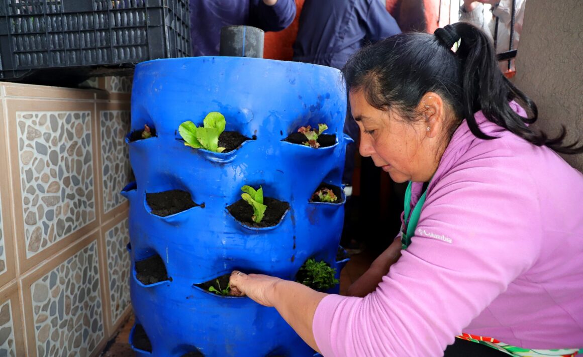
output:
[{"label": "blue plastic barrel planter with soil-filled pockets cut in its side", "polygon": [[[128,134],[136,182],[123,191],[136,316],[130,342],[138,355],[313,355],[275,309],[206,288],[232,270],[293,280],[310,258],[337,268],[338,277],[346,263],[337,258],[345,196],[336,190],[335,203],[312,196],[321,185],[340,188],[350,139],[342,133],[346,94],[339,76],[324,66],[235,57],[136,66],[131,127],[155,133],[140,140]],[[225,116],[226,130],[251,140],[229,153],[185,146],[178,126],[201,125],[212,111]],[[335,135],[332,146],[285,140],[318,123]],[[261,185],[265,197],[289,205],[277,224],[254,227],[231,215],[243,185]],[[188,204],[164,211],[164,200],[150,200],[168,192]]]}]

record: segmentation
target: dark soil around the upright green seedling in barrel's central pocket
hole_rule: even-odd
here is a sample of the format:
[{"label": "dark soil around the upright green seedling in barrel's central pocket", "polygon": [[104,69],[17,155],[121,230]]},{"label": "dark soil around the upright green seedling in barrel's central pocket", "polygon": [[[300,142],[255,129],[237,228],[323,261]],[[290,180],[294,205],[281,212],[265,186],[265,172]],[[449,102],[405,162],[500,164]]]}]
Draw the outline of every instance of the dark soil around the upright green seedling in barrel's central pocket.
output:
[{"label": "dark soil around the upright green seedling in barrel's central pocket", "polygon": [[265,215],[261,222],[255,223],[251,217],[253,215],[253,207],[245,202],[243,199],[231,204],[227,210],[235,219],[250,227],[265,228],[273,227],[282,220],[283,214],[286,213],[290,207],[289,203],[280,200],[272,199],[271,197],[264,197],[263,203],[267,206]]}]

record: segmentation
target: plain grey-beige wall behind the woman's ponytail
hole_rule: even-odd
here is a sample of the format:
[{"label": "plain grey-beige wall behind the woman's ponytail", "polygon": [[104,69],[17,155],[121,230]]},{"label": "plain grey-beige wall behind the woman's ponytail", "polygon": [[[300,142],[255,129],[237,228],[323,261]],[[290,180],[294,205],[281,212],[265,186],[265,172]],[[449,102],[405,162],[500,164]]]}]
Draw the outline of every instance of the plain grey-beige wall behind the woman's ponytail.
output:
[{"label": "plain grey-beige wall behind the woman's ponytail", "polygon": [[[541,129],[583,139],[583,2],[528,0],[518,45],[517,87],[539,108]],[[583,171],[583,154],[564,155]]]}]

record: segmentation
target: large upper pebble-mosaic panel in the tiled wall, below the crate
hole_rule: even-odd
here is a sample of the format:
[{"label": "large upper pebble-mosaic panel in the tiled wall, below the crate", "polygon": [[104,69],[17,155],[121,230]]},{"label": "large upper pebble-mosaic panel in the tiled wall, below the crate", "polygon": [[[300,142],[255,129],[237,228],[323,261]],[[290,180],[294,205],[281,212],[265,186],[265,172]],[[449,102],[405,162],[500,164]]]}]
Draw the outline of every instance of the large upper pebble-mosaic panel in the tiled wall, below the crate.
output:
[{"label": "large upper pebble-mosaic panel in the tiled wall, below the crate", "polygon": [[90,112],[17,112],[26,255],[96,218]]}]

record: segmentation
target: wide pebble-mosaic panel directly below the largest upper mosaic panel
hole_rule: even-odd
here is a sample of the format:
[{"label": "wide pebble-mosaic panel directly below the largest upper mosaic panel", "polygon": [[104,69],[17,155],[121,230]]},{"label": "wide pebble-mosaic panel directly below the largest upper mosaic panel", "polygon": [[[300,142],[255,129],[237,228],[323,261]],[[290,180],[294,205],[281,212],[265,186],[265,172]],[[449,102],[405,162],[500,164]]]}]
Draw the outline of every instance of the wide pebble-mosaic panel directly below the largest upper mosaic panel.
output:
[{"label": "wide pebble-mosaic panel directly below the largest upper mosaic panel", "polygon": [[97,242],[31,284],[38,356],[89,356],[104,337]]}]

